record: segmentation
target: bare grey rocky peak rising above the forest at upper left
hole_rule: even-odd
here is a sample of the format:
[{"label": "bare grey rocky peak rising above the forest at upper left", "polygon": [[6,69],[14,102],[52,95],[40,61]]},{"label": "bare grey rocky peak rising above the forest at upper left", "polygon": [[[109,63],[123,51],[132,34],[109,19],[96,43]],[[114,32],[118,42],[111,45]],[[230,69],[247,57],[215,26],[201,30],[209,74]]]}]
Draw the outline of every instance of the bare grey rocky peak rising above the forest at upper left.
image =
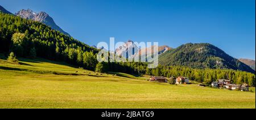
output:
[{"label": "bare grey rocky peak rising above the forest at upper left", "polygon": [[20,10],[18,13],[15,13],[15,15],[20,16],[21,18],[25,19],[31,19],[38,22],[42,22],[48,26],[50,26],[52,29],[62,32],[65,35],[70,36],[67,32],[62,30],[57,24],[54,22],[54,20],[45,12],[35,13],[34,11],[27,9],[27,10]]}]

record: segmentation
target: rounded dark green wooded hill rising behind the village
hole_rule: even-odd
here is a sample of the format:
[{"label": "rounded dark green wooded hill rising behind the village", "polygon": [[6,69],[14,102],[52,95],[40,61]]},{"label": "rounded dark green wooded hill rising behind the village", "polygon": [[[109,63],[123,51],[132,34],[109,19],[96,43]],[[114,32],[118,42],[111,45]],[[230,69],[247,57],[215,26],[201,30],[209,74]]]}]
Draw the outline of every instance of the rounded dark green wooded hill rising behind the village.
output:
[{"label": "rounded dark green wooded hill rising behind the village", "polygon": [[200,69],[220,68],[255,72],[248,65],[208,43],[188,43],[171,49],[159,56],[159,64],[181,65]]}]

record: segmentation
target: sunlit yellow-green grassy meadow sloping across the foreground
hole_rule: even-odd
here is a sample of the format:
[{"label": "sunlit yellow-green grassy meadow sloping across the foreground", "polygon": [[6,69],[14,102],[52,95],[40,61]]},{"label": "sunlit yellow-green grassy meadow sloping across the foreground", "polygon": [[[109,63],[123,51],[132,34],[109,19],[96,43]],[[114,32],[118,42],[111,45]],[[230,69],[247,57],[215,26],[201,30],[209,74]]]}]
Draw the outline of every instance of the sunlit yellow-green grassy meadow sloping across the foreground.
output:
[{"label": "sunlit yellow-green grassy meadow sloping across the foreground", "polygon": [[124,73],[97,76],[44,59],[20,60],[21,65],[0,60],[0,108],[255,108],[255,88],[176,86]]}]

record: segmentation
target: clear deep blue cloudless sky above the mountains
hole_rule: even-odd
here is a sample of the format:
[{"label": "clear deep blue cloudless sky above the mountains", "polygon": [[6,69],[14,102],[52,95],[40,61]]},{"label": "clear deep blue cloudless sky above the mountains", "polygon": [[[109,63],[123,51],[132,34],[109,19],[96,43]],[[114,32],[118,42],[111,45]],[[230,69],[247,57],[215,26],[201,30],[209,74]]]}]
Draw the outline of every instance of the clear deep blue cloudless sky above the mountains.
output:
[{"label": "clear deep blue cloudless sky above the mountains", "polygon": [[89,45],[131,39],[178,47],[211,43],[255,60],[255,0],[0,0],[11,13],[46,11],[64,31]]}]

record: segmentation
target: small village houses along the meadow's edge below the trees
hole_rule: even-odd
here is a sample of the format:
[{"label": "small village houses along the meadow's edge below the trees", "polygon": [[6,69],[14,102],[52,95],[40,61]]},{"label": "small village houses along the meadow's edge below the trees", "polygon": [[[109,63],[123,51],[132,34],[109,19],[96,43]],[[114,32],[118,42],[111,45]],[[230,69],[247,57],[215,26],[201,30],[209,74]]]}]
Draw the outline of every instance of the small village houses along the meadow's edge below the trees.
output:
[{"label": "small village houses along the meadow's edge below the trees", "polygon": [[[163,76],[151,76],[149,81],[158,81],[158,82],[168,82],[174,80],[174,84],[189,84],[188,77],[171,77],[170,80],[167,80],[166,77]],[[171,82],[170,82],[171,84]],[[198,86],[206,86],[204,84],[200,84]],[[213,88],[220,88],[220,89],[228,89],[228,90],[241,90],[241,91],[249,91],[249,85],[247,84],[232,84],[230,80],[226,79],[219,79],[217,81],[213,81],[210,85]]]}]

